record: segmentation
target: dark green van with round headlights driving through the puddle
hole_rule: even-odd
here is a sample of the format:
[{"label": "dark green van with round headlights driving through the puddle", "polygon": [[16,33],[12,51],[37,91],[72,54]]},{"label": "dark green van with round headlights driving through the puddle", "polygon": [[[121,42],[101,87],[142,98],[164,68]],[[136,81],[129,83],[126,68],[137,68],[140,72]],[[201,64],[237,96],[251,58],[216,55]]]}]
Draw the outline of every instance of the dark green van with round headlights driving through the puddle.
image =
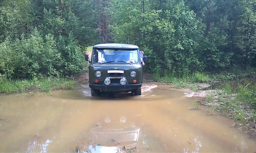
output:
[{"label": "dark green van with round headlights driving through the puddle", "polygon": [[141,95],[142,64],[140,48],[130,44],[98,44],[92,48],[89,87],[92,96],[102,92],[132,92]]}]

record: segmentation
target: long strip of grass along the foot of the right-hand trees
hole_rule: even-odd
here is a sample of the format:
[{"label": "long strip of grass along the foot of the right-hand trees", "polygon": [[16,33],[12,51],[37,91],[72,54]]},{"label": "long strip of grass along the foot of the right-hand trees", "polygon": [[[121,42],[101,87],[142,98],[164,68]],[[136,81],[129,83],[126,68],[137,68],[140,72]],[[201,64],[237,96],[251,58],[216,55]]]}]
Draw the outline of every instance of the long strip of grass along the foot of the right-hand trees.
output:
[{"label": "long strip of grass along the foot of the right-hand trees", "polygon": [[[256,69],[241,69],[239,67],[232,67],[228,71],[222,71],[219,73],[195,72],[192,74],[179,75],[176,72],[170,70],[162,71],[159,66],[156,66],[152,74],[155,80],[172,84],[176,88],[190,88],[192,90],[198,90],[198,85],[200,83],[209,84],[213,81],[238,81],[240,79],[250,77],[252,75],[255,76]],[[228,88],[228,86],[225,88]],[[228,91],[227,94],[229,92],[230,91]]]}]

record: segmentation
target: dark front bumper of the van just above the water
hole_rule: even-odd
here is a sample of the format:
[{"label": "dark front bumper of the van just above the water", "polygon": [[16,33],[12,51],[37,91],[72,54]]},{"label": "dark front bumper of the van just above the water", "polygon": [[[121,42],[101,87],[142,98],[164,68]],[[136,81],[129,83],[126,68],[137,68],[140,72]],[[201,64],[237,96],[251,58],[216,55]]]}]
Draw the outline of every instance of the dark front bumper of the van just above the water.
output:
[{"label": "dark front bumper of the van just above the water", "polygon": [[129,84],[129,85],[96,85],[96,84],[89,84],[89,87],[94,90],[101,90],[104,92],[129,92],[133,91],[134,89],[138,89],[141,87],[141,84]]}]

